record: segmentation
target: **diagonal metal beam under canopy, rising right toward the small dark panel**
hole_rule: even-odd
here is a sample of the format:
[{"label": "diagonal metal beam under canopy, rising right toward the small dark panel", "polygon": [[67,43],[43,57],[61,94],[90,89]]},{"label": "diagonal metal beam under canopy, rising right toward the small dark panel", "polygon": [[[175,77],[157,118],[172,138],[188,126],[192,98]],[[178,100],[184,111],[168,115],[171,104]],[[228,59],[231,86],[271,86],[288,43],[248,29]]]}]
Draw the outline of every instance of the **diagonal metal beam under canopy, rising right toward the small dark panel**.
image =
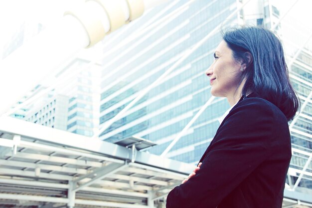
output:
[{"label": "diagonal metal beam under canopy, rising right toward the small dark panel", "polygon": [[77,180],[74,180],[73,182],[78,184],[79,182],[81,182],[83,179],[85,178],[89,178],[91,176],[95,176],[93,179],[91,179],[90,181],[82,184],[82,185],[79,185],[79,187],[77,186],[76,188],[74,188],[73,190],[75,192],[78,192],[79,190],[81,190],[83,187],[87,187],[87,186],[90,186],[91,184],[94,184],[96,183],[97,181],[111,175],[111,174],[114,174],[120,170],[122,170],[123,168],[125,168],[126,166],[128,166],[128,163],[125,162],[125,164],[116,164],[116,163],[112,163],[106,167],[103,167],[103,168],[100,168],[98,169],[97,171],[94,171],[90,174],[87,174],[83,177],[80,177],[78,178]]}]

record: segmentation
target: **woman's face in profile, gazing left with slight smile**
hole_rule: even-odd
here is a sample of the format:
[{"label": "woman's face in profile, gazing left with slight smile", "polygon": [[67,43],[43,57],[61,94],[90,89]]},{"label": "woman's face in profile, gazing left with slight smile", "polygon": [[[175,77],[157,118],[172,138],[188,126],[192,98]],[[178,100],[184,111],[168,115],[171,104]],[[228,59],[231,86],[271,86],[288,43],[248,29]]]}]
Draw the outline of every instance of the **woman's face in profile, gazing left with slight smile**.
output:
[{"label": "woman's face in profile, gazing left with slight smile", "polygon": [[205,72],[210,77],[211,94],[216,97],[234,96],[240,82],[242,65],[232,56],[232,50],[222,40],[215,50],[215,60]]}]

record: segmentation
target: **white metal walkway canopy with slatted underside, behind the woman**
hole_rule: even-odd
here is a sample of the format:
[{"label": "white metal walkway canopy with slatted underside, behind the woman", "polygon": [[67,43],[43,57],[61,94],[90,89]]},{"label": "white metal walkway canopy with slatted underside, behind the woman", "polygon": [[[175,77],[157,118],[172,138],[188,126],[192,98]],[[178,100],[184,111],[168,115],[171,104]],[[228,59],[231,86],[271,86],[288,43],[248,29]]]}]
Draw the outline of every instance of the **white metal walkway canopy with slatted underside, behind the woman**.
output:
[{"label": "white metal walkway canopy with slatted underside, behind the woman", "polygon": [[[154,208],[194,166],[0,117],[0,207]],[[285,208],[312,208],[285,190]],[[309,208],[308,207],[308,208]]]}]

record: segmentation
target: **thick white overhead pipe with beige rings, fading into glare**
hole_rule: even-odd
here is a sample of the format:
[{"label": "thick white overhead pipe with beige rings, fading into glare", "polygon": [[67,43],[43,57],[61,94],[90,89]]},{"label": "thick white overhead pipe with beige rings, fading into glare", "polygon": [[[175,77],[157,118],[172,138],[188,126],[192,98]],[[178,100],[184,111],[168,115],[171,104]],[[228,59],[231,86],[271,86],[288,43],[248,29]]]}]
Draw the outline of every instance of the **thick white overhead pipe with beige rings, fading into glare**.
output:
[{"label": "thick white overhead pipe with beige rings, fading into glare", "polygon": [[[0,63],[0,115],[45,77],[56,77],[66,60],[168,0],[86,0],[64,13],[57,27],[42,31]],[[63,64],[63,65],[62,65]]]}]

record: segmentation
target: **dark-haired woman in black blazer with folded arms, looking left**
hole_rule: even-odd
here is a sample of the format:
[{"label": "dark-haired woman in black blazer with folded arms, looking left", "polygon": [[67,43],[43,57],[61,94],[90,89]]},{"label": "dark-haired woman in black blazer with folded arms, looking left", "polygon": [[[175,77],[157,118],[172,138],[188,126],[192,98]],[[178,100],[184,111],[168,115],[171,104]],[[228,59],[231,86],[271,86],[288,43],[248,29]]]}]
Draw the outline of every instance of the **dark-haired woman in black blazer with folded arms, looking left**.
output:
[{"label": "dark-haired woman in black blazer with folded arms, looking left", "polygon": [[211,94],[232,107],[166,207],[281,208],[292,156],[288,121],[299,108],[281,41],[264,28],[236,28],[214,58],[206,71]]}]

